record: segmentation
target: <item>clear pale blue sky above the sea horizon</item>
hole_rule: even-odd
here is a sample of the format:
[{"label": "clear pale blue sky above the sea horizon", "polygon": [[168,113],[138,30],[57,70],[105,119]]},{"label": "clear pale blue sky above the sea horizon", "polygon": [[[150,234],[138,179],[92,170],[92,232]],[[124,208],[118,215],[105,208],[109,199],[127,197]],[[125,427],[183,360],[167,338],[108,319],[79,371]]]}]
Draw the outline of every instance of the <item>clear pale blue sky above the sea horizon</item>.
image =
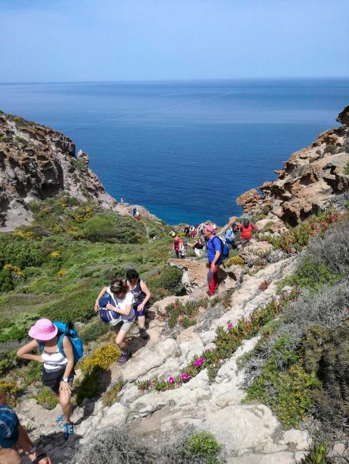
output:
[{"label": "clear pale blue sky above the sea horizon", "polygon": [[0,0],[0,82],[348,77],[348,0]]}]

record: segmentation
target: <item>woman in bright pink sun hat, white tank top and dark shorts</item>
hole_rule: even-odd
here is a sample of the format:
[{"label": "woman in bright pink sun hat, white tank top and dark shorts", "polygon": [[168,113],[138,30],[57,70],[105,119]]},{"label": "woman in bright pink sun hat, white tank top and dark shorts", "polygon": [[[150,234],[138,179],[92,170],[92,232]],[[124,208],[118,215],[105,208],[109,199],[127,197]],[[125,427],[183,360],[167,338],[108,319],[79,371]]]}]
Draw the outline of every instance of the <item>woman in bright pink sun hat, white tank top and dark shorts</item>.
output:
[{"label": "woman in bright pink sun hat, white tank top and dark shorts", "polygon": [[[72,410],[70,397],[73,389],[75,359],[72,343],[66,335],[61,339],[63,349],[59,349],[58,332],[58,328],[50,319],[37,320],[28,332],[33,340],[22,346],[17,351],[17,356],[43,363],[41,380],[43,385],[52,389],[61,403],[63,415],[57,419],[57,422],[64,421],[64,438],[67,440],[74,432],[73,422],[70,422]],[[38,348],[41,350],[40,355],[31,353]]]}]

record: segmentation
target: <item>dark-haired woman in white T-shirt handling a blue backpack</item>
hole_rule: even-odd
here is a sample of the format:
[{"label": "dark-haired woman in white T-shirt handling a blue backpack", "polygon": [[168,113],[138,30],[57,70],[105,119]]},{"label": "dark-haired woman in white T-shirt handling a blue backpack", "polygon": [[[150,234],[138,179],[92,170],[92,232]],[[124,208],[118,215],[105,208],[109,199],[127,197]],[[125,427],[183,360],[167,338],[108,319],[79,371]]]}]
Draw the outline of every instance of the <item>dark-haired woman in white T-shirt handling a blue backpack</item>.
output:
[{"label": "dark-haired woman in white T-shirt handling a blue backpack", "polygon": [[[122,364],[125,364],[125,362],[127,362],[131,357],[131,351],[128,349],[125,337],[135,322],[135,310],[133,309],[135,298],[133,297],[131,291],[128,290],[126,281],[114,279],[112,280],[110,287],[103,287],[100,291],[94,305],[94,310],[96,312],[100,311],[101,309],[100,300],[102,299],[103,295],[105,295],[105,293],[110,295],[112,299],[110,302],[107,302],[104,309],[121,315],[121,318],[115,318],[114,322],[112,321],[110,325],[114,327],[116,334],[115,343],[117,343],[121,350],[121,356],[119,358],[118,364],[119,366],[122,366]],[[119,332],[117,332],[117,325],[119,323],[122,323],[122,325]]]}]

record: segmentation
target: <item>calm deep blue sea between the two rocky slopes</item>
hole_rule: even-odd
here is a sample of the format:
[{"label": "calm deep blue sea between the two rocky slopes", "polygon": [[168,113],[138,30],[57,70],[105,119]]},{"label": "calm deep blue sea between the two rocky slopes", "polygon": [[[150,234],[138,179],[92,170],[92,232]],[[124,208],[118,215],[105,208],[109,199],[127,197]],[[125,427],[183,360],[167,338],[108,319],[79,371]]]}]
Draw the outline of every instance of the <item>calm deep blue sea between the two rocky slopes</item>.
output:
[{"label": "calm deep blue sea between the two rocky slopes", "polygon": [[239,215],[348,104],[349,79],[0,84],[2,111],[64,132],[114,198],[169,224]]}]

